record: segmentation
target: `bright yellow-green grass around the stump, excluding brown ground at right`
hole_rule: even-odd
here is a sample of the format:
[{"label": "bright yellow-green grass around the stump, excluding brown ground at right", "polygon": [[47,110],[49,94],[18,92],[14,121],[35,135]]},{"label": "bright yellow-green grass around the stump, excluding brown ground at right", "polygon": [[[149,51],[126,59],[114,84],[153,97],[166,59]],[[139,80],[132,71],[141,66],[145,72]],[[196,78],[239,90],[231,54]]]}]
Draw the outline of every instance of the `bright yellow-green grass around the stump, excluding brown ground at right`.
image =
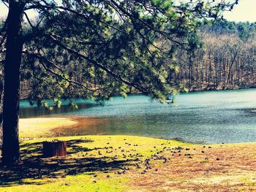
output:
[{"label": "bright yellow-green grass around the stump, excluding brown ground at right", "polygon": [[[42,141],[53,139],[67,141],[67,157],[42,157]],[[188,145],[131,136],[33,139],[21,142],[23,164],[0,168],[0,191],[127,191],[127,172],[140,172],[136,164],[164,147]]]}]

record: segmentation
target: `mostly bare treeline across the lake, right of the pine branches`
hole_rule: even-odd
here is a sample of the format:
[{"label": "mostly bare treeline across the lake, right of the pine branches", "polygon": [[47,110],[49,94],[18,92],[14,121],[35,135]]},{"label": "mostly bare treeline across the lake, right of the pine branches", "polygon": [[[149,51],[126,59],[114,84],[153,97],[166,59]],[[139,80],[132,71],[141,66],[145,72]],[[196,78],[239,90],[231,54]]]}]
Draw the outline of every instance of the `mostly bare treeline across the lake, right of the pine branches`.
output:
[{"label": "mostly bare treeline across the lake, right of the pine branches", "polygon": [[256,23],[222,21],[200,30],[203,44],[180,50],[177,79],[189,91],[256,87]]}]

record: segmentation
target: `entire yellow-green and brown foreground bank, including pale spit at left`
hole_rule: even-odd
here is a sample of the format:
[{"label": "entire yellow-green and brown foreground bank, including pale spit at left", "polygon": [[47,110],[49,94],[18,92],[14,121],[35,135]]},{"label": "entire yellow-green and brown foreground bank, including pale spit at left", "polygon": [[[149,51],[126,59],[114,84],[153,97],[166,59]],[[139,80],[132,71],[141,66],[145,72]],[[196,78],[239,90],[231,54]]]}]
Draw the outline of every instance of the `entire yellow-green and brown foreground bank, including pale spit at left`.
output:
[{"label": "entire yellow-green and brown foreground bank, including pale spit at left", "polygon": [[[72,119],[48,119],[74,127]],[[56,125],[26,120],[23,162],[0,167],[0,191],[255,191],[256,143],[192,145],[132,136],[46,138]],[[22,125],[29,125],[25,128]],[[45,123],[44,123],[45,122]],[[75,124],[74,124],[75,123]],[[45,126],[47,128],[45,131]],[[47,134],[48,133],[48,134]],[[68,155],[43,158],[42,141],[67,141]]]}]

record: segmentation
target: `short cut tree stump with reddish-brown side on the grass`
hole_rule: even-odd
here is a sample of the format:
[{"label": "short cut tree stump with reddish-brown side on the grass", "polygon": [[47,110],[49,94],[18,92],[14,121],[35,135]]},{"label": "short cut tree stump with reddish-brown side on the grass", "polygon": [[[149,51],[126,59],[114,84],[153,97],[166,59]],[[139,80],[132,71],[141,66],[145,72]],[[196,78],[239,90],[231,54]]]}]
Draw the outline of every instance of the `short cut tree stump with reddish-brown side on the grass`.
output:
[{"label": "short cut tree stump with reddish-brown side on the grass", "polygon": [[42,147],[44,157],[67,155],[67,142],[64,141],[42,142]]}]

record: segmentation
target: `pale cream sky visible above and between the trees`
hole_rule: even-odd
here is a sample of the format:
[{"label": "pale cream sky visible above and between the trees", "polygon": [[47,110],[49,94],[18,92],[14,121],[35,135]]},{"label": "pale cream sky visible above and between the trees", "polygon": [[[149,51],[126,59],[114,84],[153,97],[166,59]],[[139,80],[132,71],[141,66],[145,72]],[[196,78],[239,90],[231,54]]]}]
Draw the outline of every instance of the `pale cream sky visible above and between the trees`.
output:
[{"label": "pale cream sky visible above and between the trees", "polygon": [[[28,12],[33,17],[34,11]],[[0,3],[0,18],[7,15],[7,7]],[[239,0],[231,12],[225,12],[224,18],[230,21],[256,22],[256,0]]]}]

